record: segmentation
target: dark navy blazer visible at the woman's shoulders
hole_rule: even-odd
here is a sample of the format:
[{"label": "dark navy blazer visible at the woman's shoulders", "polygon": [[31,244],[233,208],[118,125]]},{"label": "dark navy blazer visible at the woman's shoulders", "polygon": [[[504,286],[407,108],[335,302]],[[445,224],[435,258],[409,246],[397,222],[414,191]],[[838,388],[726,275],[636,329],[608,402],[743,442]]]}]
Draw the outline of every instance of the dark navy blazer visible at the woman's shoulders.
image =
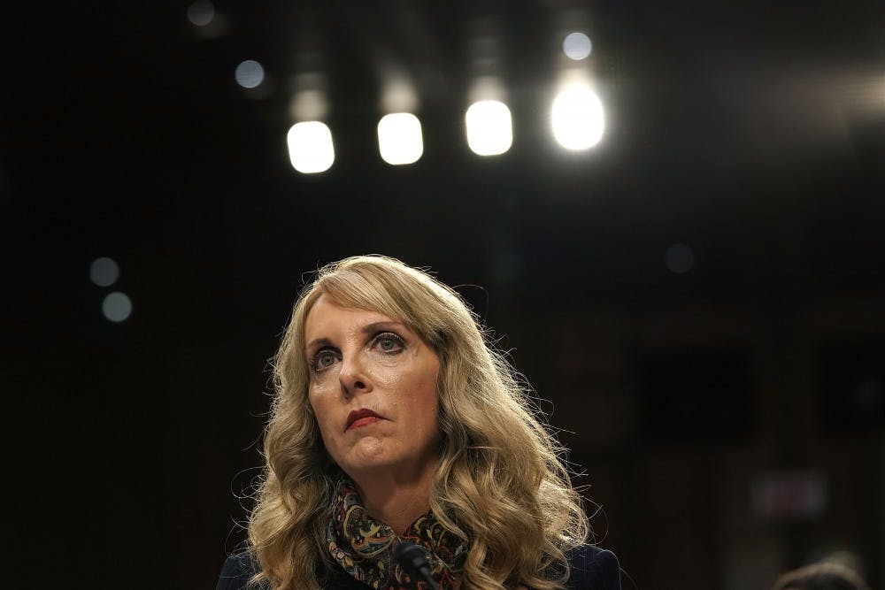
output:
[{"label": "dark navy blazer visible at the woman's shoulders", "polygon": [[[572,566],[572,575],[566,584],[569,590],[620,590],[620,565],[611,551],[584,545],[572,551],[568,561]],[[215,590],[245,590],[253,573],[248,555],[230,556]],[[327,584],[328,590],[366,590],[368,587],[341,569],[332,573]]]}]

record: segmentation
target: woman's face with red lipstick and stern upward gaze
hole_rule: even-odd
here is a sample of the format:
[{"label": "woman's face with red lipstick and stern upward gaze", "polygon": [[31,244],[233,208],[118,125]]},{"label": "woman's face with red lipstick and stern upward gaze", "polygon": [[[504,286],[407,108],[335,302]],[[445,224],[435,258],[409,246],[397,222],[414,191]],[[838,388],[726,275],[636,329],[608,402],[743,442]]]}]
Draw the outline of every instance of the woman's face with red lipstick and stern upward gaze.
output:
[{"label": "woman's face with red lipstick and stern upward gaze", "polygon": [[439,357],[377,311],[320,295],[304,322],[309,400],[330,456],[351,478],[435,462]]}]

